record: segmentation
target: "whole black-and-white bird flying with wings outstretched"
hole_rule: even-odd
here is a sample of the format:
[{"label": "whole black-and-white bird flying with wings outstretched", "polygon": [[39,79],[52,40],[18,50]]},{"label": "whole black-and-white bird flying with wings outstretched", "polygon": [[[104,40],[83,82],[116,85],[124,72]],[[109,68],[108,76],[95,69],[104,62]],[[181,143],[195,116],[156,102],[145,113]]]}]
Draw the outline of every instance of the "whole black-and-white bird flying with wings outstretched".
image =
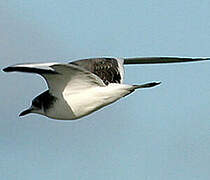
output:
[{"label": "whole black-and-white bird flying with wings outstretched", "polygon": [[37,113],[52,119],[74,120],[125,97],[136,89],[151,88],[160,82],[123,84],[124,65],[205,61],[210,58],[139,57],[89,58],[70,63],[26,63],[4,68],[5,72],[41,75],[48,90],[35,97],[31,107],[20,113]]}]

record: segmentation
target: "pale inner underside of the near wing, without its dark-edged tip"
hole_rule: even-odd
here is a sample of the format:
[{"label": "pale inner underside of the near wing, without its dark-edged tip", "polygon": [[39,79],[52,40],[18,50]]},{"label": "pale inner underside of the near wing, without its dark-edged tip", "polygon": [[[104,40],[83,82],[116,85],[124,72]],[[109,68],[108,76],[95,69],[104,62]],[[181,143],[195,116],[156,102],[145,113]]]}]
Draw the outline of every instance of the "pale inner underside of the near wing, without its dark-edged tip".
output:
[{"label": "pale inner underside of the near wing, without its dark-edged tip", "polygon": [[58,74],[44,75],[52,93],[74,92],[94,86],[105,86],[103,81],[93,73],[72,64],[51,66]]}]

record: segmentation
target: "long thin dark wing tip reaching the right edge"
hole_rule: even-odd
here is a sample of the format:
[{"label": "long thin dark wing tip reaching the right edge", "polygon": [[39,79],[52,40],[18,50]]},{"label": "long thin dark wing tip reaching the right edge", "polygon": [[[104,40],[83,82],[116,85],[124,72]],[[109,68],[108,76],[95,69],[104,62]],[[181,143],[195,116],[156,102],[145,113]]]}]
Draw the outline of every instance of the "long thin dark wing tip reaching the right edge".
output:
[{"label": "long thin dark wing tip reaching the right edge", "polygon": [[185,58],[185,57],[134,57],[124,58],[124,64],[159,64],[207,61],[210,58]]}]

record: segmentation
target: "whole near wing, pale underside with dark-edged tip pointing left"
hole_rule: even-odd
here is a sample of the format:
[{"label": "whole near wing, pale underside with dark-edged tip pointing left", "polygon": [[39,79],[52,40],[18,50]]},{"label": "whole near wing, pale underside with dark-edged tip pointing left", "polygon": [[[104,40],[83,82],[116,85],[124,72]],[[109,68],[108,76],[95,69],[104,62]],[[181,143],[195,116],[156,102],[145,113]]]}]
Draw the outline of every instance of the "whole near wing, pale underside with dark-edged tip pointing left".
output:
[{"label": "whole near wing, pale underside with dark-edged tip pointing left", "polygon": [[37,73],[47,81],[49,91],[52,94],[63,92],[67,86],[72,91],[92,86],[105,86],[95,74],[73,64],[17,64],[7,67],[3,71]]}]

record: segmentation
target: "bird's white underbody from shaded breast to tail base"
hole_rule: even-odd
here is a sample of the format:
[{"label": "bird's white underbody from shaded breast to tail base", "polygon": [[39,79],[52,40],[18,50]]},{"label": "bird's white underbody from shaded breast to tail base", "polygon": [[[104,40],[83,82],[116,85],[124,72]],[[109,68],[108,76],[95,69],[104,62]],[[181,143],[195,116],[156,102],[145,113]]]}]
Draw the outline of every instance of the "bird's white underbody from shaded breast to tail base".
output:
[{"label": "bird's white underbody from shaded breast to tail base", "polygon": [[130,94],[132,89],[131,85],[111,83],[79,91],[64,90],[63,98],[58,98],[53,109],[49,109],[45,115],[55,119],[78,119]]}]

